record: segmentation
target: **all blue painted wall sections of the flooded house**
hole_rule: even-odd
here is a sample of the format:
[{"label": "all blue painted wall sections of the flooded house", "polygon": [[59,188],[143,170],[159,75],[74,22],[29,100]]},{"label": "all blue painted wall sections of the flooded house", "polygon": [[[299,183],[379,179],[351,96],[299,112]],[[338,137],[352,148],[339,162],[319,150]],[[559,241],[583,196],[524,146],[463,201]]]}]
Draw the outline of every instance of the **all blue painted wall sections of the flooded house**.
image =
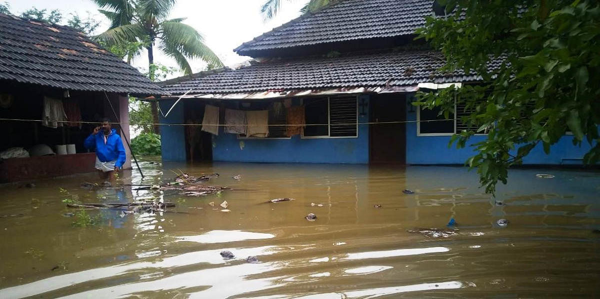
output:
[{"label": "all blue painted wall sections of the flooded house", "polygon": [[[361,95],[367,99],[368,95]],[[187,101],[202,101],[187,99]],[[227,100],[224,100],[227,101]],[[175,100],[161,100],[161,109],[168,111]],[[406,103],[405,103],[406,104]],[[359,123],[372,123],[368,108],[357,107]],[[409,165],[463,165],[474,155],[473,147],[457,149],[449,147],[452,134],[419,135],[416,109],[406,112],[406,164]],[[173,108],[167,119],[161,123],[185,123],[184,105]],[[355,138],[302,138],[295,135],[291,138],[240,138],[236,134],[226,134],[220,128],[219,135],[212,135],[212,160],[227,162],[268,162],[268,163],[334,163],[334,164],[368,164],[370,162],[370,127],[376,124],[358,126],[358,137]],[[185,161],[185,128],[181,125],[163,125],[161,127],[163,159],[165,161]],[[485,135],[476,135],[468,144],[482,141]],[[574,146],[572,136],[565,135],[559,143],[551,147],[546,155],[541,146],[532,150],[524,159],[530,165],[562,165],[581,164],[583,155],[590,150],[589,144]]]}]

